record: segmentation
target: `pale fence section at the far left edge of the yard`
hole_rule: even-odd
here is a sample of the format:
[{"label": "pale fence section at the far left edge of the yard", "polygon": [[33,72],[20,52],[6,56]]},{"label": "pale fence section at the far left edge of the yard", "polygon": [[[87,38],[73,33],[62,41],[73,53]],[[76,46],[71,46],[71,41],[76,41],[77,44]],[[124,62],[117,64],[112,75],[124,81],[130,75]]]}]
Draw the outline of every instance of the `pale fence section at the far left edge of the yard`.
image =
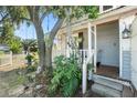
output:
[{"label": "pale fence section at the far left edge of the yard", "polygon": [[12,65],[12,52],[0,55],[0,68],[9,64]]}]

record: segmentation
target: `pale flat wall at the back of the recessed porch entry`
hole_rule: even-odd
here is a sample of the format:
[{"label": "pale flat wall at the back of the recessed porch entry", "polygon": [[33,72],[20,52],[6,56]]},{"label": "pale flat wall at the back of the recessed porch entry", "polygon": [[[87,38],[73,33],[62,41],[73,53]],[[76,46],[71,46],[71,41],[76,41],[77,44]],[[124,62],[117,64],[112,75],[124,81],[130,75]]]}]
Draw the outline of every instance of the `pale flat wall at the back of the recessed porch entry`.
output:
[{"label": "pale flat wall at the back of the recessed porch entry", "polygon": [[[102,64],[119,66],[118,22],[97,25],[97,51]],[[99,60],[98,60],[99,61]]]}]

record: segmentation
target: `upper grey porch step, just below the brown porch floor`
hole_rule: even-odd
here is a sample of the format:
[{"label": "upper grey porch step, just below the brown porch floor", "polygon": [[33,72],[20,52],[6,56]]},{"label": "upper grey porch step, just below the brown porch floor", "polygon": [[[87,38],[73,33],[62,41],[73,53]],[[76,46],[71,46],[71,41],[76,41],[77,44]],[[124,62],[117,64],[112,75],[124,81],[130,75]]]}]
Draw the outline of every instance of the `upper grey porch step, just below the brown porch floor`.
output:
[{"label": "upper grey porch step, just below the brown porch floor", "polygon": [[102,84],[104,86],[108,86],[110,89],[115,89],[117,91],[123,91],[123,84],[117,82],[115,79],[101,76],[101,75],[93,75],[93,81],[97,84]]}]

